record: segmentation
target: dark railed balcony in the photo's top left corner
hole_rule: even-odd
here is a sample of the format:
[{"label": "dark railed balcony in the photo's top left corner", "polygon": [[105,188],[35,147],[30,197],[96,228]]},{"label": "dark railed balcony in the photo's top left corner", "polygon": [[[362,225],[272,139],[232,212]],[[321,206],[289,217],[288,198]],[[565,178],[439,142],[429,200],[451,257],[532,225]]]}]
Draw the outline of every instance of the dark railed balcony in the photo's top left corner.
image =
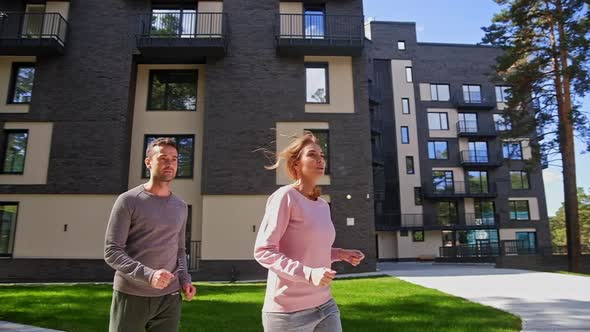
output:
[{"label": "dark railed balcony in the photo's top left corner", "polygon": [[67,34],[59,13],[0,12],[0,55],[62,55]]}]

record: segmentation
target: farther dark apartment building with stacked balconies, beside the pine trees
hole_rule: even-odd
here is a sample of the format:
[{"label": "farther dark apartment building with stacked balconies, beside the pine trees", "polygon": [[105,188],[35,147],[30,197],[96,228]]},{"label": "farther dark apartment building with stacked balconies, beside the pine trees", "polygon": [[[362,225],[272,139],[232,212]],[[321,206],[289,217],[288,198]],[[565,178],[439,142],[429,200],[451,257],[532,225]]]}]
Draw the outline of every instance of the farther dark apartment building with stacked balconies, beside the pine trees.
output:
[{"label": "farther dark apartment building with stacked balconies, beside the pine trees", "polygon": [[371,22],[378,259],[494,261],[550,247],[542,167],[509,138],[500,50],[422,43],[414,23]]}]

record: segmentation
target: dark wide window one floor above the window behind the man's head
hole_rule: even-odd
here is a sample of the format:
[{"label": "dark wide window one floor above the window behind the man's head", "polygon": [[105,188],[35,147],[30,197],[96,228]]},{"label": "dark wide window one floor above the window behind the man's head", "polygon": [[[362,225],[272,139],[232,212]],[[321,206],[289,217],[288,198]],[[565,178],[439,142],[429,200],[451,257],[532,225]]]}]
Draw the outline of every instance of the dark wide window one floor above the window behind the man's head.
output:
[{"label": "dark wide window one floor above the window behind the man's head", "polygon": [[150,70],[148,110],[196,111],[196,70]]}]

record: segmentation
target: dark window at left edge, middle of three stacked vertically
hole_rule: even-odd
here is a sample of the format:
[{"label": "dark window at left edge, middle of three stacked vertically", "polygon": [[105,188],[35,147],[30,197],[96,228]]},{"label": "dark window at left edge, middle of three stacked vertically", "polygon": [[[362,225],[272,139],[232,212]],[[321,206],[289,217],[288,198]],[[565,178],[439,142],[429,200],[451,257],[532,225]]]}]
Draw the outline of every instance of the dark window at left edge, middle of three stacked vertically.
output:
[{"label": "dark window at left edge, middle of three stacked vertically", "polygon": [[23,174],[27,156],[28,130],[6,130],[4,132],[4,156],[2,173]]}]

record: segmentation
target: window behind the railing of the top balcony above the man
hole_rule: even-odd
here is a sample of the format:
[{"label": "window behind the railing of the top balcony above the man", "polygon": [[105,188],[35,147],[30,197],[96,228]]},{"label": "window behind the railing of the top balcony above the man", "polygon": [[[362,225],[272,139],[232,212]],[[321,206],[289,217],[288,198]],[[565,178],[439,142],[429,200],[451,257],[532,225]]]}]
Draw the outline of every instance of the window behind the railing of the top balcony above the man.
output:
[{"label": "window behind the railing of the top balcony above the man", "polygon": [[196,8],[154,8],[150,37],[194,38],[197,33]]}]

